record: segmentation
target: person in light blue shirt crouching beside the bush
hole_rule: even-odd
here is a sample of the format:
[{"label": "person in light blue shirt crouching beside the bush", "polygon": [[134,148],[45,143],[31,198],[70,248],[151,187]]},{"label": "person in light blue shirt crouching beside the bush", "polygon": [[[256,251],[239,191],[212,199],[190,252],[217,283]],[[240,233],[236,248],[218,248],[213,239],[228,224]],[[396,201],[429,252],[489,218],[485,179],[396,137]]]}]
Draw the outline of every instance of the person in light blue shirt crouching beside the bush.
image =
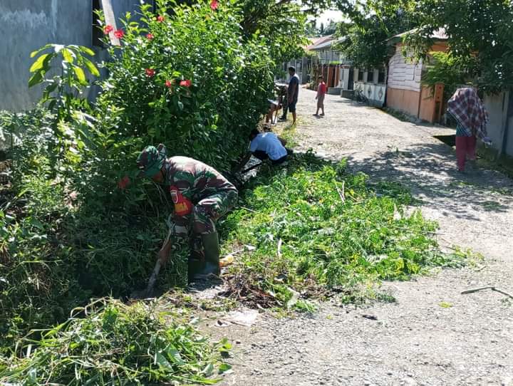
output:
[{"label": "person in light blue shirt crouching beside the bush", "polygon": [[249,151],[259,160],[271,160],[272,165],[283,164],[288,155],[285,148],[286,140],[278,137],[274,132],[259,132],[253,129],[249,134]]}]

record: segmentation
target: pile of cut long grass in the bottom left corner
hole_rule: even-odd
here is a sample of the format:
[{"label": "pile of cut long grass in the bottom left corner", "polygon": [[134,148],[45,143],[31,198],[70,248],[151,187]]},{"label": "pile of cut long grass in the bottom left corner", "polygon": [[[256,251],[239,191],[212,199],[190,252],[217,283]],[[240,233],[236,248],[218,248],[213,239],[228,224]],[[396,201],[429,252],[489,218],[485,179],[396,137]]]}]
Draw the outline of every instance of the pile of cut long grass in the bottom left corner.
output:
[{"label": "pile of cut long grass in the bottom left corner", "polygon": [[226,340],[209,342],[156,303],[101,299],[73,313],[81,317],[22,340],[0,364],[0,384],[213,384],[230,369]]}]

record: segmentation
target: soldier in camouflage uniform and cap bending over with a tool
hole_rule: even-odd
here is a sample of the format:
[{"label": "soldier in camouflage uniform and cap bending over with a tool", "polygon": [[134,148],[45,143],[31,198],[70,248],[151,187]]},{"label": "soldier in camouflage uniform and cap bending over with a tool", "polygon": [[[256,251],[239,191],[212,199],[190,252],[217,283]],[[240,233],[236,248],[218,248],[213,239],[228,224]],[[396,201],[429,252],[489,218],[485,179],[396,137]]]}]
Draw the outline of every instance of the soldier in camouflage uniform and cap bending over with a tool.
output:
[{"label": "soldier in camouflage uniform and cap bending over with a tool", "polygon": [[166,157],[164,145],[148,146],[138,157],[145,177],[169,187],[175,211],[158,256],[165,264],[175,243],[190,240],[189,281],[219,275],[215,221],[237,203],[237,189],[217,170],[188,157]]}]

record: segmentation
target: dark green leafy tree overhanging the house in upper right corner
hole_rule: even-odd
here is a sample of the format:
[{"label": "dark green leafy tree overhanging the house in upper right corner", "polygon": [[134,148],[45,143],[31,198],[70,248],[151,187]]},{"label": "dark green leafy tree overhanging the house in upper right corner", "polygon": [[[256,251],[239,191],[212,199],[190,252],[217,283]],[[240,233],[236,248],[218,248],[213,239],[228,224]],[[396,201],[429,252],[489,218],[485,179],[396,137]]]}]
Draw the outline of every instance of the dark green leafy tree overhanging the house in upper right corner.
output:
[{"label": "dark green leafy tree overhanging the house in upper right corner", "polygon": [[482,90],[513,87],[513,5],[509,0],[421,0],[423,28],[405,38],[417,58],[427,55],[430,34],[445,28],[450,56]]}]

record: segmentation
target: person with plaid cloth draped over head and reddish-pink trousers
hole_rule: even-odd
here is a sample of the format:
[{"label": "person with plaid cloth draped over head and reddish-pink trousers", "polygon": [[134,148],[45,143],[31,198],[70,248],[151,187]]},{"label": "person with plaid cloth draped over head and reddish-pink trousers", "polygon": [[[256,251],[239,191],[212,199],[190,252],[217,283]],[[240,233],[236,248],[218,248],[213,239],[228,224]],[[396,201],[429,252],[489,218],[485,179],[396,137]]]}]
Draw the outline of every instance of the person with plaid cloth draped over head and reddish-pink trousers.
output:
[{"label": "person with plaid cloth draped over head and reddish-pink trousers", "polygon": [[448,112],[455,118],[456,157],[459,172],[465,172],[465,162],[476,160],[477,138],[489,144],[488,113],[475,88],[458,88],[448,103]]}]

